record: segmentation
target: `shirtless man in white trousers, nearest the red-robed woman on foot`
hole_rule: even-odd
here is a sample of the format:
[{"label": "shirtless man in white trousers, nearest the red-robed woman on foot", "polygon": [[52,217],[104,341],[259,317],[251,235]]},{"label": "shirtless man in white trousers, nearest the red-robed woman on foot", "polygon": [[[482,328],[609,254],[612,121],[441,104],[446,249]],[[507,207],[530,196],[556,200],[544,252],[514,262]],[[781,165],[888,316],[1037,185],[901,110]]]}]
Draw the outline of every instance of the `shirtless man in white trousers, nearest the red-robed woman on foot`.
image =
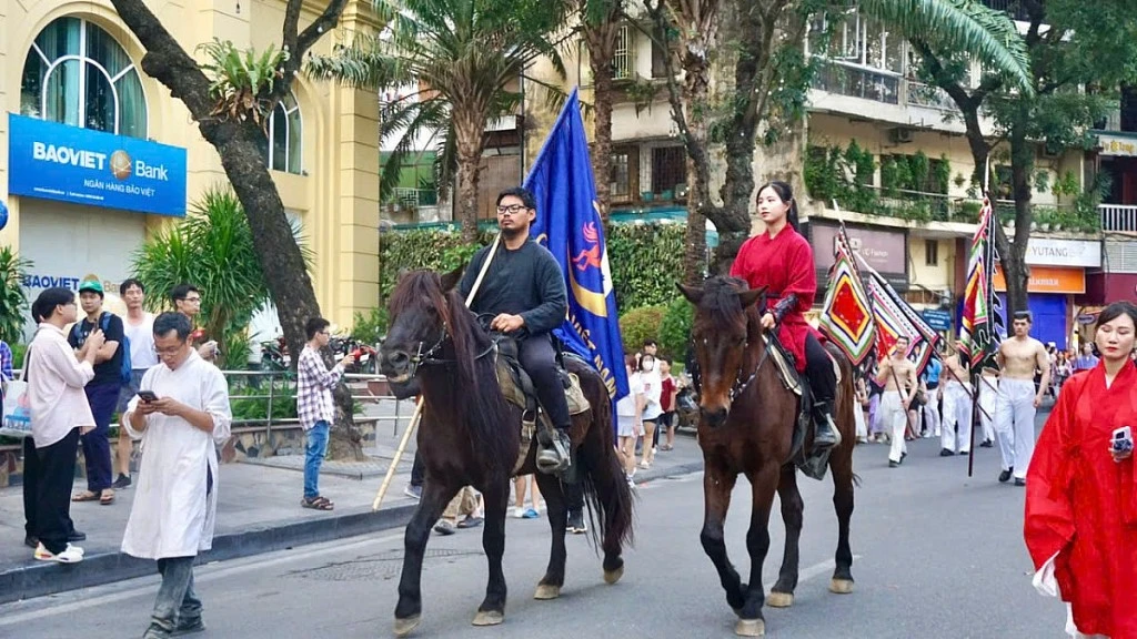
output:
[{"label": "shirtless man in white trousers, nearest the red-robed woman on foot", "polygon": [[[1035,453],[1035,412],[1051,385],[1051,358],[1043,342],[1030,337],[1029,310],[1014,314],[1014,335],[1003,340],[996,359],[1001,368],[998,401],[995,407],[995,435],[1003,454],[1005,483],[1014,475],[1014,486],[1027,486],[1027,467]],[[1043,380],[1035,388],[1035,371]]]}]

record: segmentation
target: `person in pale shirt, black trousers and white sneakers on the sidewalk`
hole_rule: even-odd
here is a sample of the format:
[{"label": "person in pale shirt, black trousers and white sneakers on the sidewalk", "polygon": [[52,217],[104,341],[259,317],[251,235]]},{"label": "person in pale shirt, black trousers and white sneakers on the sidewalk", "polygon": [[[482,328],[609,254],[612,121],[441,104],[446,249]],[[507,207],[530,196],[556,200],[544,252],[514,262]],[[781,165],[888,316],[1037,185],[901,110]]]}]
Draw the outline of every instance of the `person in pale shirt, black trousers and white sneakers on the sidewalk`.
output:
[{"label": "person in pale shirt, black trousers and white sneakers on the sidewalk", "polygon": [[72,546],[70,489],[80,434],[94,430],[94,416],[83,388],[94,379],[94,358],[103,345],[96,326],[88,335],[82,360],[67,343],[64,326],[78,315],[75,293],[47,289],[32,304],[40,322],[25,356],[27,400],[35,454],[24,459],[24,508],[27,532],[38,540],[35,558],[74,564],[83,549]]}]

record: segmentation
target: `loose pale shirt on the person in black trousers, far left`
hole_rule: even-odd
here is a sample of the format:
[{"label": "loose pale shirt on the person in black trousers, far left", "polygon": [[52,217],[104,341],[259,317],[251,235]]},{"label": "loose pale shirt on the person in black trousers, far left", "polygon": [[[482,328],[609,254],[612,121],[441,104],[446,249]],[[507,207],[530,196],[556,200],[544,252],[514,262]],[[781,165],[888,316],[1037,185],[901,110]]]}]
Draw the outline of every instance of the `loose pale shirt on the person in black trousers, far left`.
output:
[{"label": "loose pale shirt on the person in black trousers, far left", "polygon": [[75,358],[67,337],[53,324],[40,324],[28,347],[27,401],[32,439],[45,448],[82,426],[94,426],[83,387],[94,379],[94,368]]}]

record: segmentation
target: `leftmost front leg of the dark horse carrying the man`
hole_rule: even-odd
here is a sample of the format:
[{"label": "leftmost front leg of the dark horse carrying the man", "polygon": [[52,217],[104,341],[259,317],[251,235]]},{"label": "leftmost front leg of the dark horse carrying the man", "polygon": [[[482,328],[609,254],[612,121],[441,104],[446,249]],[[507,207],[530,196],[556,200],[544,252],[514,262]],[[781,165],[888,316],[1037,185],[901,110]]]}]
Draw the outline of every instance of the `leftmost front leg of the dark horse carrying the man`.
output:
[{"label": "leftmost front leg of the dark horse carrying the man", "polygon": [[422,621],[423,555],[431,528],[438,522],[447,504],[458,493],[457,486],[442,486],[438,481],[423,484],[422,499],[402,536],[402,574],[399,578],[399,603],[395,606],[395,636],[406,637]]}]

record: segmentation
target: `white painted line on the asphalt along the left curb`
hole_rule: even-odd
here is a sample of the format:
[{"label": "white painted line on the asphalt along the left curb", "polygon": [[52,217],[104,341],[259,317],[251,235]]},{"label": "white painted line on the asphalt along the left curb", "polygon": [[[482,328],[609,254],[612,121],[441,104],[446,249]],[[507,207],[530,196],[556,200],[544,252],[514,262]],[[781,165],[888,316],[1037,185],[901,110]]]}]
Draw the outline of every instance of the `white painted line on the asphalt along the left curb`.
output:
[{"label": "white painted line on the asphalt along the left curb", "polygon": [[[277,550],[268,555],[252,555],[250,557],[243,557],[240,559],[232,559],[229,562],[213,562],[201,566],[196,566],[193,580],[202,583],[209,583],[211,581],[217,581],[218,579],[224,579],[227,576],[233,576],[238,574],[243,574],[247,572],[258,571],[266,567],[272,567],[280,564],[287,564],[289,562],[296,562],[297,559],[310,559],[314,557],[321,557],[324,555],[342,555],[345,551],[350,551],[354,549],[359,549],[364,546],[383,545],[390,541],[402,539],[402,532],[395,534],[387,534],[383,537],[375,537],[371,539],[360,539],[358,541],[343,543],[340,541],[329,541],[322,545],[305,546],[302,554],[298,554],[296,550]],[[273,555],[276,555],[275,557]],[[7,613],[3,612],[6,608],[18,608],[25,605],[34,605],[36,603],[43,603],[50,599],[66,598],[81,596],[84,590],[72,590],[68,592],[60,592],[58,595],[48,595],[45,597],[38,597],[35,599],[28,599],[25,601],[17,601],[14,604],[8,604],[6,606],[0,606],[0,628],[8,625],[16,625],[20,623],[26,623],[28,621],[34,621],[38,619],[43,619],[48,616],[56,616],[59,614],[83,611],[86,608],[93,608],[97,606],[103,606],[107,604],[114,604],[131,597],[138,597],[140,595],[152,594],[155,586],[157,584],[158,575],[152,576],[139,576],[127,581],[122,581],[118,583],[108,583],[106,586],[96,587],[96,589],[103,588],[115,588],[122,587],[123,584],[138,583],[138,586],[128,586],[126,590],[118,590],[116,592],[109,592],[107,595],[100,595],[98,597],[82,599],[77,601],[64,601],[58,605],[48,605],[44,608],[27,611],[24,613]],[[142,583],[144,582],[144,583]]]}]

